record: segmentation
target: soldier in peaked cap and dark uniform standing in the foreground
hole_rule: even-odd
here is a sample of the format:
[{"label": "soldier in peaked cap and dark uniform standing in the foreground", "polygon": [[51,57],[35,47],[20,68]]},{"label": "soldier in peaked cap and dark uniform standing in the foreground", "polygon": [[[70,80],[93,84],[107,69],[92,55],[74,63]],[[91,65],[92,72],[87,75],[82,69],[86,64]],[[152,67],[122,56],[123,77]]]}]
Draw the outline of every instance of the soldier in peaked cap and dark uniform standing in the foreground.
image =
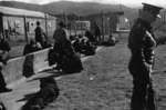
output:
[{"label": "soldier in peaked cap and dark uniform standing in the foreground", "polygon": [[160,7],[143,3],[141,17],[131,29],[128,48],[132,57],[128,64],[133,77],[132,110],[156,110],[155,91],[153,89],[154,48],[156,41],[152,33],[152,23],[159,17]]}]

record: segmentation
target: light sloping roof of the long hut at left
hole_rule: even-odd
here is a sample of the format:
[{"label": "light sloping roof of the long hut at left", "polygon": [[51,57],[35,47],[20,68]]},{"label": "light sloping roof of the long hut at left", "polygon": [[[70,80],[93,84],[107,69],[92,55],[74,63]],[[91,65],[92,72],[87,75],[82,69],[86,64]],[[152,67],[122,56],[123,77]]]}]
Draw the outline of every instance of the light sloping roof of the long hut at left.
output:
[{"label": "light sloping roof of the long hut at left", "polygon": [[27,17],[41,17],[44,18],[44,13],[39,11],[30,11],[24,9],[9,8],[0,6],[0,13],[11,16],[27,16]]}]

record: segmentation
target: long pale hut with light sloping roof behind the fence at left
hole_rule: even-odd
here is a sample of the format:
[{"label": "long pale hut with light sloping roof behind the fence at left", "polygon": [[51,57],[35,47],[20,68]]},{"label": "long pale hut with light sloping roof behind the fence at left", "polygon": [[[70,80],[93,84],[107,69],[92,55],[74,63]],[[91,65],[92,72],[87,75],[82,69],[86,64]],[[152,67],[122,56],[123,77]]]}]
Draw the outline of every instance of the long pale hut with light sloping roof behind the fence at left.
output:
[{"label": "long pale hut with light sloping roof behind the fence at left", "polygon": [[30,38],[34,38],[37,21],[41,22],[41,27],[48,37],[52,37],[56,29],[55,17],[39,11],[0,6],[0,32],[4,39],[28,41]]}]

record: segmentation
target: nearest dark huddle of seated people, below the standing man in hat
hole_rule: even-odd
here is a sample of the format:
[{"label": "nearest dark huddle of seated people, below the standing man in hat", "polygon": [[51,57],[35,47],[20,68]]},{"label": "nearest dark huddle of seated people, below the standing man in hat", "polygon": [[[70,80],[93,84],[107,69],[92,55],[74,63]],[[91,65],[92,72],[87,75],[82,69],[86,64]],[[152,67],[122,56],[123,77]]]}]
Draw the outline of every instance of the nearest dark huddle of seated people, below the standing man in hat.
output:
[{"label": "nearest dark huddle of seated people, below the standing man in hat", "polygon": [[83,70],[80,54],[77,54],[71,43],[66,40],[64,43],[54,43],[49,52],[49,64],[56,63],[54,69],[63,70],[65,73],[80,72]]}]

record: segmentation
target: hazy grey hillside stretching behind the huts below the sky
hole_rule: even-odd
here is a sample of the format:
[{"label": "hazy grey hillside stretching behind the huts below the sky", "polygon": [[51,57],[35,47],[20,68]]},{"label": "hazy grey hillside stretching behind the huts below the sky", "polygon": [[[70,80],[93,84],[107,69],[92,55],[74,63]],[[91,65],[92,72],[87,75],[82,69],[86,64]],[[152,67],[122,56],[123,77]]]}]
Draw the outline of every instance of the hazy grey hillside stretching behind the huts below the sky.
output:
[{"label": "hazy grey hillside stretching behind the huts below the sky", "polygon": [[80,16],[87,16],[92,13],[100,13],[102,10],[104,12],[115,12],[115,11],[125,11],[125,14],[128,19],[133,20],[138,14],[138,9],[128,8],[120,4],[101,4],[95,2],[71,2],[71,1],[58,1],[51,2],[48,4],[33,4],[24,3],[17,1],[0,1],[0,6],[28,9],[41,12],[48,12],[51,14],[60,14],[65,12],[66,14],[79,13]]}]

